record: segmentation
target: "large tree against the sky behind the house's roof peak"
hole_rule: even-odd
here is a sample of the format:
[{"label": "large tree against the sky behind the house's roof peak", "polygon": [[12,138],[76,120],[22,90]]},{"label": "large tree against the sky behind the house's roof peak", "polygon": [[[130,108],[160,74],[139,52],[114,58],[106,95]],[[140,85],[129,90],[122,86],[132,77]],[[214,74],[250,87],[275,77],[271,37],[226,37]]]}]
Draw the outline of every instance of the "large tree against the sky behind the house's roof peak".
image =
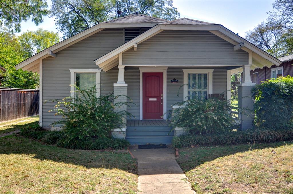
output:
[{"label": "large tree against the sky behind the house's roof peak", "polygon": [[180,17],[172,5],[172,0],[52,0],[51,15],[56,18],[63,38],[67,38],[100,22],[134,12],[168,20]]}]

